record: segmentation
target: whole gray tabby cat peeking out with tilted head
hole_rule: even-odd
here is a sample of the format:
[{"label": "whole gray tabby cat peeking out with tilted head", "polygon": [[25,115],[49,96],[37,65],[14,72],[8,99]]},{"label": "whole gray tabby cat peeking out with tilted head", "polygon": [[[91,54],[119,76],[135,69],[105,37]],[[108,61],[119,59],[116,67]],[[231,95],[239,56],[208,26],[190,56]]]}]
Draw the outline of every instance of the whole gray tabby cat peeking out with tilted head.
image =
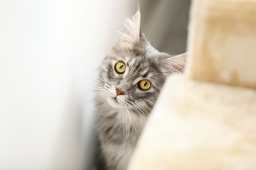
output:
[{"label": "whole gray tabby cat peeking out with tilted head", "polygon": [[127,169],[137,140],[167,76],[186,55],[158,52],[140,32],[140,12],[104,58],[96,86],[97,130],[106,169]]}]

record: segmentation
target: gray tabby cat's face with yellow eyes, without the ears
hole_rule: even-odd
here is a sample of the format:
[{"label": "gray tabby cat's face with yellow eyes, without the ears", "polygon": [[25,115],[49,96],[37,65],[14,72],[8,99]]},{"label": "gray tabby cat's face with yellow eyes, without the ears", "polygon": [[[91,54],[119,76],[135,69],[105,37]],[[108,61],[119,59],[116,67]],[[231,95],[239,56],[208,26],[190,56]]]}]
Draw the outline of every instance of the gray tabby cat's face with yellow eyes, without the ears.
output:
[{"label": "gray tabby cat's face with yellow eyes, without the ears", "polygon": [[114,49],[104,59],[100,78],[108,93],[107,102],[116,108],[152,109],[165,75],[157,58],[147,58],[145,52]]}]

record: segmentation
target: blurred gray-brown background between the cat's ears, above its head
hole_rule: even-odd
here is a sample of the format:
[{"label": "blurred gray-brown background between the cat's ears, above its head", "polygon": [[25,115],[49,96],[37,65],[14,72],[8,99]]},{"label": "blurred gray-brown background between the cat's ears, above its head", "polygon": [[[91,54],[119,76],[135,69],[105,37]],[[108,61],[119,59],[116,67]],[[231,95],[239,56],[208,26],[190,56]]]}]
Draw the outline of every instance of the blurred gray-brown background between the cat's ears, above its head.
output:
[{"label": "blurred gray-brown background between the cat's ears, above its head", "polygon": [[140,0],[142,31],[156,49],[186,52],[190,0]]}]

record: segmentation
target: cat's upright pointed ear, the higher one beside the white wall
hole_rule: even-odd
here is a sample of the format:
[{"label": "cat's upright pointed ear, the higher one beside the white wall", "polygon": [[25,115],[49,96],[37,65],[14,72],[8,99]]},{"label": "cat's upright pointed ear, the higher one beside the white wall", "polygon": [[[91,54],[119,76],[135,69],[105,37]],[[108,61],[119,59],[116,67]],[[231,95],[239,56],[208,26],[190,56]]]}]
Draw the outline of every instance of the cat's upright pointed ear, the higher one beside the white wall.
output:
[{"label": "cat's upright pointed ear, the higher one beside the white wall", "polygon": [[127,31],[120,38],[121,42],[128,42],[129,44],[135,44],[140,40],[140,12],[137,11],[132,19],[128,19],[125,24]]}]

